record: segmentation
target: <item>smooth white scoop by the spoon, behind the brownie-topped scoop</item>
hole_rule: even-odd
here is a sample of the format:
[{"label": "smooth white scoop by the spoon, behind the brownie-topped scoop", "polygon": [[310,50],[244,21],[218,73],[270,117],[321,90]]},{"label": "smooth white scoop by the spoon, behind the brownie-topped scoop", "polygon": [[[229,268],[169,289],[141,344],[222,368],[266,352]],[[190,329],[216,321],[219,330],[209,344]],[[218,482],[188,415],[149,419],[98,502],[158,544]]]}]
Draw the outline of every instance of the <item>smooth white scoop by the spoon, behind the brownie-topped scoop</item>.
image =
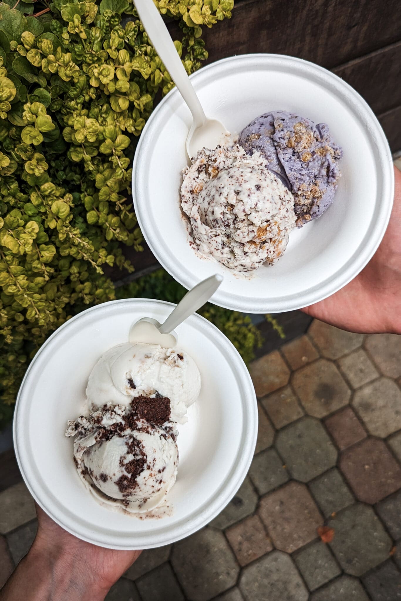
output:
[{"label": "smooth white scoop by the spoon, behind the brownie-topped scoop", "polygon": [[200,386],[199,370],[188,353],[158,344],[123,343],[103,353],[91,371],[88,408],[107,403],[127,407],[141,395],[161,395],[170,399],[171,421],[183,424]]}]

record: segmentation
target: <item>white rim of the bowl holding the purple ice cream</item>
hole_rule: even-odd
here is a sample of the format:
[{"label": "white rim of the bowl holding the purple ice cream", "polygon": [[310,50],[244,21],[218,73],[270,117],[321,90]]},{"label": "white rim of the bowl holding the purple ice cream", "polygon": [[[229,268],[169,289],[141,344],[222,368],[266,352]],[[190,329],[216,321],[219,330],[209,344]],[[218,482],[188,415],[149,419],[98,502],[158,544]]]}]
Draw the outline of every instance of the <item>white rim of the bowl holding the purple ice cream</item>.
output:
[{"label": "white rim of the bowl holding the purple ice cream", "polygon": [[[284,311],[294,311],[322,301],[343,288],[354,279],[361,270],[363,270],[378,249],[387,229],[388,221],[390,220],[394,200],[393,159],[384,131],[366,100],[364,100],[354,88],[334,73],[315,63],[305,61],[302,58],[272,53],[253,53],[229,56],[228,58],[215,61],[215,63],[211,63],[202,67],[199,71],[192,73],[190,77],[196,84],[197,81],[207,79],[210,71],[218,69],[221,66],[227,66],[228,68],[232,64],[254,62],[259,63],[259,67],[263,67],[263,61],[266,60],[271,63],[271,66],[274,64],[276,68],[281,67],[284,71],[295,69],[298,74],[304,76],[307,74],[310,79],[319,82],[320,85],[324,82],[326,84],[326,89],[331,91],[331,93],[335,93],[337,97],[340,96],[341,100],[346,103],[353,114],[357,114],[355,106],[358,106],[360,109],[358,119],[365,124],[366,130],[372,141],[372,152],[375,157],[377,167],[376,172],[378,175],[376,189],[377,191],[380,191],[381,202],[378,203],[377,200],[379,196],[378,192],[376,194],[375,219],[372,218],[360,246],[355,250],[352,257],[350,257],[333,276],[326,278],[318,285],[307,288],[304,293],[286,295],[284,297],[273,299],[272,301],[267,299],[267,302],[266,299],[262,297],[241,297],[238,294],[225,293],[221,290],[218,290],[213,294],[213,297],[210,300],[213,304],[234,311],[242,311],[243,313],[282,313]],[[342,93],[338,94],[338,91],[340,90]],[[159,263],[161,263],[162,267],[164,267],[174,279],[189,290],[197,284],[199,280],[182,265],[180,265],[180,272],[177,272],[175,258],[173,255],[170,257],[168,247],[164,240],[159,240],[158,235],[156,235],[157,233],[154,229],[153,220],[150,219],[147,214],[146,207],[148,205],[148,199],[143,192],[145,189],[145,186],[143,185],[144,174],[147,172],[147,169],[141,165],[141,161],[144,160],[144,153],[142,153],[141,150],[147,143],[148,130],[151,129],[153,122],[158,118],[159,113],[164,109],[165,105],[178,95],[179,91],[177,88],[173,88],[173,90],[162,99],[159,105],[156,106],[145,124],[133,160],[132,191],[133,204],[138,224],[141,227],[142,234],[148,246],[155,254],[155,257]],[[138,198],[141,199],[139,203]],[[178,202],[179,198],[177,197],[177,203]]]}]

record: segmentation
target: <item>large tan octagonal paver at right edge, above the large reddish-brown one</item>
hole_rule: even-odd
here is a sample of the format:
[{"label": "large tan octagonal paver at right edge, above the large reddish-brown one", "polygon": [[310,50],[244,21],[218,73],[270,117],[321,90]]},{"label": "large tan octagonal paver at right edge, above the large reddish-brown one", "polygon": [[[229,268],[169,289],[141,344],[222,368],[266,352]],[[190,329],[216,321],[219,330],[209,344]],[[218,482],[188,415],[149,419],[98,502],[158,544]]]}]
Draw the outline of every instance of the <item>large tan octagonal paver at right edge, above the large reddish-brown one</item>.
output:
[{"label": "large tan octagonal paver at right edge, above the large reddish-brown one", "polygon": [[385,377],[355,392],[352,405],[373,436],[385,438],[401,429],[401,391]]}]

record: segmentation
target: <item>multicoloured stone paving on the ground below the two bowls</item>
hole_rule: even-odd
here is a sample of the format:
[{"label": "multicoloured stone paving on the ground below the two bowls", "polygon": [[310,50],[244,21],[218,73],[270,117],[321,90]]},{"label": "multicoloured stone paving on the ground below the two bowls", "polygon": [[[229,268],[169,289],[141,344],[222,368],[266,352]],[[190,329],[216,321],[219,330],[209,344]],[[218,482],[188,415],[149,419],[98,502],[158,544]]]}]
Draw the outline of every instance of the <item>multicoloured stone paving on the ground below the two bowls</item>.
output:
[{"label": "multicoloured stone paving on the ground below the two bowls", "polygon": [[[315,320],[250,371],[259,436],[236,496],[106,601],[401,601],[401,336]],[[25,484],[0,491],[0,585],[34,517]]]}]

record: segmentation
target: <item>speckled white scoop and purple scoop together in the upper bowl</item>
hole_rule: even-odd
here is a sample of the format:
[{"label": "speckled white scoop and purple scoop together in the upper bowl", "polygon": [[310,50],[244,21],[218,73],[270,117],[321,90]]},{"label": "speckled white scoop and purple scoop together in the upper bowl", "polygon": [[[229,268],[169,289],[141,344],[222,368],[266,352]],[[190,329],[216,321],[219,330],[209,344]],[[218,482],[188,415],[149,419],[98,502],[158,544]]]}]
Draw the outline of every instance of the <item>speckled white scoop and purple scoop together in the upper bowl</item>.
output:
[{"label": "speckled white scoop and purple scoop together in the upper bowl", "polygon": [[183,169],[180,192],[195,249],[234,271],[273,265],[293,228],[333,202],[341,156],[326,124],[286,111],[203,148]]}]

